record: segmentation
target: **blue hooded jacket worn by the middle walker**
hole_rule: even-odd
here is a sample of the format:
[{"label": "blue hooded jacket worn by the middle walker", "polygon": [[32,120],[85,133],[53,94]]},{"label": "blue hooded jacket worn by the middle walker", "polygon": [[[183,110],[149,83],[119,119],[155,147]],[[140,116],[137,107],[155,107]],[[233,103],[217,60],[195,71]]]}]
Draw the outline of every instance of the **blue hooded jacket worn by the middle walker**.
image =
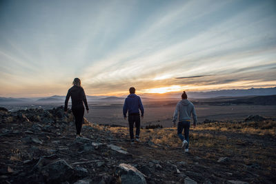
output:
[{"label": "blue hooded jacket worn by the middle walker", "polygon": [[128,115],[139,114],[139,109],[141,110],[141,116],[144,116],[144,107],[140,97],[136,94],[129,94],[124,103],[124,117],[126,117],[126,112],[128,112]]}]

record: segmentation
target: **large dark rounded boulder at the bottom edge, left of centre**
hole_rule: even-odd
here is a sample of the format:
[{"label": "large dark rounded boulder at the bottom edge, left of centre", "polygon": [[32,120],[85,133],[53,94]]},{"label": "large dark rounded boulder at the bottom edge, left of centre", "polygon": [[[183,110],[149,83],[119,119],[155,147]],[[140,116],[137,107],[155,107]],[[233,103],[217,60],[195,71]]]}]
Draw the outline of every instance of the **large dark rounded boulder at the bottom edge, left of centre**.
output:
[{"label": "large dark rounded boulder at the bottom edge, left of centre", "polygon": [[41,168],[41,174],[47,183],[72,181],[74,169],[64,160],[53,161]]}]

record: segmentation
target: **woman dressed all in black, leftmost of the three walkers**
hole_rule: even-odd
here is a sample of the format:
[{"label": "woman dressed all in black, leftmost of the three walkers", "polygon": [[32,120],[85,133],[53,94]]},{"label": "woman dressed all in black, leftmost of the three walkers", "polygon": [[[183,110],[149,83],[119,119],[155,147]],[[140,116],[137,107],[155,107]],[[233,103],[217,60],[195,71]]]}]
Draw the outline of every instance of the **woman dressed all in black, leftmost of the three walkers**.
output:
[{"label": "woman dressed all in black, leftmost of the three walkers", "polygon": [[79,78],[75,78],[72,85],[73,87],[68,90],[68,93],[66,95],[64,112],[67,112],[68,101],[71,96],[72,112],[75,116],[75,124],[77,129],[77,138],[78,138],[79,136],[81,136],[81,126],[83,124],[83,114],[84,114],[83,103],[86,105],[87,113],[89,112],[89,108],[86,101],[86,94],[83,88],[81,87],[81,80]]}]

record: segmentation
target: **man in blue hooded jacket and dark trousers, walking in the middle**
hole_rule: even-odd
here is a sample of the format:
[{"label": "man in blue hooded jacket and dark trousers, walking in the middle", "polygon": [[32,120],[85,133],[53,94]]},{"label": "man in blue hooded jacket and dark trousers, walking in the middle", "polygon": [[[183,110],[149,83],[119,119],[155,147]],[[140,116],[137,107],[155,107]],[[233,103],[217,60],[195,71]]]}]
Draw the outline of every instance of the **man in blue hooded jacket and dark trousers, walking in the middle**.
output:
[{"label": "man in blue hooded jacket and dark trousers, walking in the middle", "polygon": [[141,102],[139,96],[135,94],[135,88],[131,87],[129,89],[130,94],[125,100],[123,113],[124,119],[126,119],[126,113],[128,112],[128,125],[130,131],[130,143],[134,143],[134,135],[133,135],[133,125],[135,123],[136,127],[136,141],[139,142],[139,134],[140,134],[140,113],[141,111],[141,119],[144,118],[144,107]]}]

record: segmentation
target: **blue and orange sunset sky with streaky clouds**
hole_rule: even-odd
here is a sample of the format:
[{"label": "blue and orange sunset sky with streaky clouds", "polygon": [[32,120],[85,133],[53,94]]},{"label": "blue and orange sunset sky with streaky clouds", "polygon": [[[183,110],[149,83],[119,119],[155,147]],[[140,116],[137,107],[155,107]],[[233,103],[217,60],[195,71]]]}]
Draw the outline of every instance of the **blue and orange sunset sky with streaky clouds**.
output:
[{"label": "blue and orange sunset sky with streaky clouds", "polygon": [[276,86],[276,1],[0,0],[0,96]]}]

